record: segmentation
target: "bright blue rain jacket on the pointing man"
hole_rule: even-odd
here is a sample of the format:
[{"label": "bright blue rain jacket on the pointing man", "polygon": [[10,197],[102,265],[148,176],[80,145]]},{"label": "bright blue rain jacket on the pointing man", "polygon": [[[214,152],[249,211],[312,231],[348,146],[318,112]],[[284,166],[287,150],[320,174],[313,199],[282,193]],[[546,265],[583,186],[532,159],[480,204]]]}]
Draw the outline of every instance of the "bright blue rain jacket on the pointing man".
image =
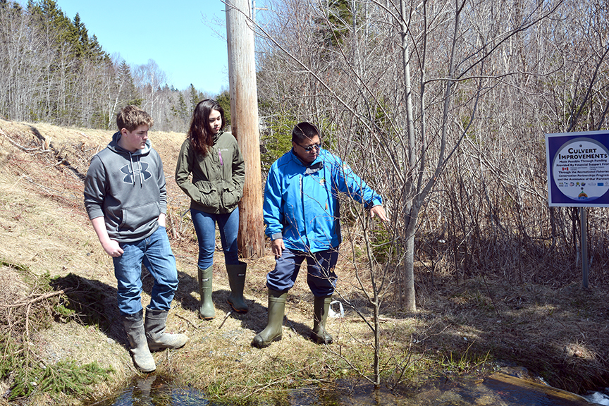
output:
[{"label": "bright blue rain jacket on the pointing man", "polygon": [[306,166],[287,152],[269,170],[264,188],[266,235],[283,238],[288,250],[319,252],[338,247],[338,192],[370,209],[383,200],[347,164],[325,149]]}]

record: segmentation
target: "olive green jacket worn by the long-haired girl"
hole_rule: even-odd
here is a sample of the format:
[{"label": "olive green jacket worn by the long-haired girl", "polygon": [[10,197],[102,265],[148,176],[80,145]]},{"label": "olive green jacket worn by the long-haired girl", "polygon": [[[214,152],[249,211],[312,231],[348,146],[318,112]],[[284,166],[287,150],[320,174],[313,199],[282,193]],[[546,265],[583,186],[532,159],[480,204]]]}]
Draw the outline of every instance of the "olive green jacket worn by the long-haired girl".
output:
[{"label": "olive green jacket worn by the long-haired girl", "polygon": [[245,164],[235,137],[218,133],[205,156],[186,139],[178,155],[176,183],[190,197],[191,209],[211,214],[233,211],[245,183]]}]

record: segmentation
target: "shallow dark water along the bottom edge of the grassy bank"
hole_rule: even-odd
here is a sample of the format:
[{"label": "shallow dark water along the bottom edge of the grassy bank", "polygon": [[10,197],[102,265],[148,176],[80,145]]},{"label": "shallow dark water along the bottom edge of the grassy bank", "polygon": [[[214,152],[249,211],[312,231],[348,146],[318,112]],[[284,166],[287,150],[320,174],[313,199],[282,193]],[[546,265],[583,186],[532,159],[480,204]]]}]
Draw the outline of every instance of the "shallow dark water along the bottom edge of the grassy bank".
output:
[{"label": "shallow dark water along the bottom edge of the grassy bank", "polygon": [[[602,393],[591,394],[596,402]],[[607,405],[608,403],[598,402]],[[444,379],[419,390],[374,390],[362,383],[339,382],[334,388],[300,388],[285,402],[274,406],[584,406],[586,398],[547,386],[532,379],[498,373],[484,379],[453,381]],[[120,395],[100,400],[90,406],[223,406],[209,402],[194,388],[180,388],[160,375],[134,379]]]}]

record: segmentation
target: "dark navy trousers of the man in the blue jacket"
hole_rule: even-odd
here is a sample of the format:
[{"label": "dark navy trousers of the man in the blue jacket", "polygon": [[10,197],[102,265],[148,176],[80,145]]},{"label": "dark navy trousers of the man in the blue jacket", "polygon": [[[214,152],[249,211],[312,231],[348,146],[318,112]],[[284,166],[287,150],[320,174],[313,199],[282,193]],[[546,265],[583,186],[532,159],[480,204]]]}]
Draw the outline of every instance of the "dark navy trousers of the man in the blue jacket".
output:
[{"label": "dark navy trousers of the man in the blue jacket", "polygon": [[266,275],[266,287],[279,292],[291,289],[307,259],[307,285],[314,296],[331,296],[336,288],[334,267],[338,261],[338,248],[319,252],[301,252],[285,249],[275,260],[275,269]]}]

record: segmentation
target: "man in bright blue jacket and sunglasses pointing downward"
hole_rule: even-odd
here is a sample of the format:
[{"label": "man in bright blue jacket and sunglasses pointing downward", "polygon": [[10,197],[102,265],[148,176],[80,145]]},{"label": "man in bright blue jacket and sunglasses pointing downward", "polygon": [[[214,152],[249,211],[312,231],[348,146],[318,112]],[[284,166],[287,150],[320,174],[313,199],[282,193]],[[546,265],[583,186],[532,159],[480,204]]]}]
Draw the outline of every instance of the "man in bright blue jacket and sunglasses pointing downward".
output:
[{"label": "man in bright blue jacket and sunglasses pointing downward", "polygon": [[381,196],[338,156],[321,149],[314,125],[297,124],[292,130],[292,149],[273,163],[266,178],[264,223],[276,264],[266,276],[269,321],[254,337],[254,347],[281,340],[285,298],[305,259],[307,284],[315,297],[311,339],[318,344],[332,343],[325,327],[341,241],[338,192],[364,204],[371,217],[387,220]]}]

